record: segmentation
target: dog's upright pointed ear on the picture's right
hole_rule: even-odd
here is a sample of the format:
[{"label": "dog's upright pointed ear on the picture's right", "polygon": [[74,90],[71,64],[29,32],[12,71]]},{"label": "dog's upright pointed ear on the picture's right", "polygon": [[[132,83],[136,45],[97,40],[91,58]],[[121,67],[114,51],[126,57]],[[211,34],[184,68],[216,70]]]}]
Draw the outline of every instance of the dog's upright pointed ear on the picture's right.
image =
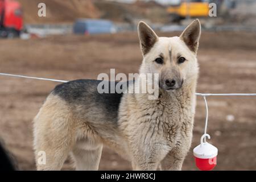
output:
[{"label": "dog's upright pointed ear on the picture's right", "polygon": [[201,24],[199,19],[193,20],[191,24],[180,35],[180,39],[185,42],[189,49],[197,52],[199,46],[199,39],[201,35]]}]

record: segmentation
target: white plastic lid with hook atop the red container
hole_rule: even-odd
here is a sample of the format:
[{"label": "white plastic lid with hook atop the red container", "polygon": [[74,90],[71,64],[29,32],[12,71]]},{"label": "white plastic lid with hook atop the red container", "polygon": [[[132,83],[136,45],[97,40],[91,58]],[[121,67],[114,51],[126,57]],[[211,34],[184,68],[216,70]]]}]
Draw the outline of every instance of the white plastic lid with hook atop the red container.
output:
[{"label": "white plastic lid with hook atop the red container", "polygon": [[196,158],[200,159],[214,158],[218,154],[218,148],[208,142],[203,142],[204,137],[208,137],[208,139],[210,139],[210,135],[204,134],[201,137],[201,144],[194,148],[193,154]]}]

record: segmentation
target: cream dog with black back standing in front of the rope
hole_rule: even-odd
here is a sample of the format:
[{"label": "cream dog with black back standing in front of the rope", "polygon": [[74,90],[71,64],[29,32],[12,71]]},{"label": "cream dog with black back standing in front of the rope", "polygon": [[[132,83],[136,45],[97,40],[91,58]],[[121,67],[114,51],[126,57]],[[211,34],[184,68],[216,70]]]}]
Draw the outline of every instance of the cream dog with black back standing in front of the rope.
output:
[{"label": "cream dog with black back standing in front of the rope", "polygon": [[200,35],[198,19],[171,38],[139,22],[139,73],[159,74],[155,100],[147,93],[98,93],[101,80],[57,85],[34,118],[37,169],[60,170],[71,154],[77,170],[97,170],[105,144],[134,170],[181,170],[192,140]]}]

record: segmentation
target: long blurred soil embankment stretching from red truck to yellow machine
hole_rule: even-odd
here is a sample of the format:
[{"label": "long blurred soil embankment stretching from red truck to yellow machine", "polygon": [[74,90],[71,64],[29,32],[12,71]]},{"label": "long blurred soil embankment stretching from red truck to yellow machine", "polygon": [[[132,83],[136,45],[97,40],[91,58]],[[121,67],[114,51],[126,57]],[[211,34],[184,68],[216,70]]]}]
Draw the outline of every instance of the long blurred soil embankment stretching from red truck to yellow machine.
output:
[{"label": "long blurred soil embankment stretching from red truck to yellow machine", "polygon": [[[72,23],[77,18],[105,18],[116,22],[132,22],[144,18],[152,22],[168,22],[165,7],[154,2],[134,4],[101,0],[17,0],[21,3],[24,23]],[[46,3],[46,17],[38,16],[38,4]]]}]

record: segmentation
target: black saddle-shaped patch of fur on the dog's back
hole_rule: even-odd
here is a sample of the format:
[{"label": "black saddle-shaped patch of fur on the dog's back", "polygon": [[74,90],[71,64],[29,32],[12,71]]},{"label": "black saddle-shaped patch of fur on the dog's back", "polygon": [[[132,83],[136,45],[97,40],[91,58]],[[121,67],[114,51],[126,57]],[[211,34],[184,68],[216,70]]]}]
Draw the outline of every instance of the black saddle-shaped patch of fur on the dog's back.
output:
[{"label": "black saddle-shaped patch of fur on the dog's back", "polygon": [[[97,86],[101,80],[74,80],[57,85],[53,94],[60,96],[71,106],[82,106],[84,110],[97,110],[104,114],[106,119],[117,121],[118,107],[122,93],[98,93]],[[114,82],[115,85],[117,82]]]}]

